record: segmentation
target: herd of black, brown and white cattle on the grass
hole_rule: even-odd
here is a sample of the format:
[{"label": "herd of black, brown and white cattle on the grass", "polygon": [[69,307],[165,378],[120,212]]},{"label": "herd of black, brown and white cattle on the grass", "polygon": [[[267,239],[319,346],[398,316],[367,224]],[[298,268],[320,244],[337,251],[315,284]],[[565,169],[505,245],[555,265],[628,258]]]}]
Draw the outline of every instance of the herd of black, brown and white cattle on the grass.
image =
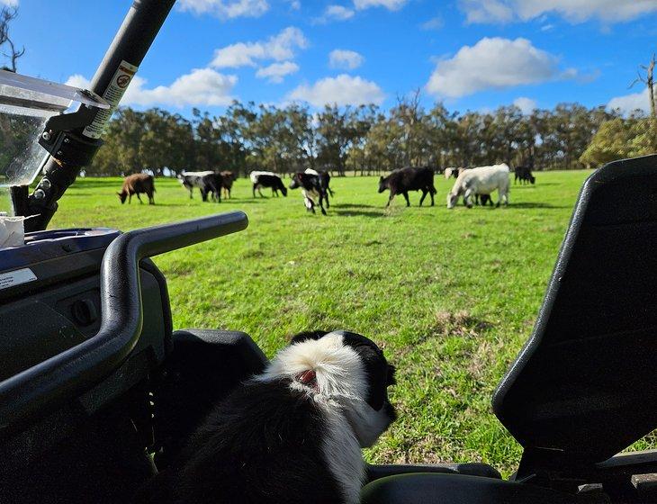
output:
[{"label": "herd of black, brown and white cattle on the grass", "polygon": [[[520,181],[521,184],[535,184],[536,177],[532,175],[531,169],[527,166],[517,166],[514,170],[514,184]],[[475,204],[493,204],[491,194],[498,192],[497,206],[500,204],[509,204],[509,175],[510,169],[506,164],[493,166],[479,166],[475,168],[446,168],[443,172],[448,179],[454,177],[455,184],[452,190],[447,194],[447,208],[454,208],[459,198],[463,197],[464,205],[472,208]],[[421,191],[422,196],[419,200],[419,206],[425,201],[427,194],[431,199],[431,206],[434,206],[434,195],[437,193],[434,186],[435,170],[429,167],[420,168],[401,168],[394,170],[390,175],[381,177],[379,180],[379,193],[390,191],[386,207],[390,205],[394,197],[402,194],[406,200],[406,206],[410,206],[409,192]],[[224,198],[230,198],[230,191],[233,182],[236,180],[233,172],[183,172],[178,175],[178,180],[185,189],[189,191],[189,197],[193,198],[194,187],[201,193],[203,202],[210,199],[212,202],[221,202],[221,192]],[[263,188],[270,188],[272,195],[278,196],[283,193],[287,196],[287,188],[283,179],[273,172],[253,171],[249,174],[252,184],[253,197],[256,197],[256,191],[260,197],[265,197],[262,193]],[[320,211],[326,215],[326,209],[329,208],[329,195],[333,197],[333,191],[330,188],[330,175],[326,171],[317,171],[311,168],[304,172],[297,172],[292,176],[290,189],[301,189],[303,202],[308,211],[315,213],[315,207],[319,206]],[[128,175],[123,181],[121,193],[117,193],[121,203],[127,199],[130,203],[132,195],[136,195],[139,202],[140,193],[148,196],[148,203],[155,204],[153,193],[155,193],[155,184],[152,175],[135,174]],[[326,208],[325,208],[326,205]]]}]

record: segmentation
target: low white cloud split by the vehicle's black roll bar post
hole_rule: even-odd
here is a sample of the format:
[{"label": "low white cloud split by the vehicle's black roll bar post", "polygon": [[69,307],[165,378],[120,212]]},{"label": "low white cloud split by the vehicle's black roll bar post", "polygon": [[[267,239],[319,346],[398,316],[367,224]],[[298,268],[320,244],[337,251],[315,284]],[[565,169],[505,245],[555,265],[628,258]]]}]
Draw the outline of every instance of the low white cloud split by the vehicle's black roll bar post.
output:
[{"label": "low white cloud split by the vehicle's black roll bar post", "polygon": [[[230,95],[237,84],[237,76],[225,76],[211,68],[195,68],[189,74],[179,76],[171,85],[146,88],[146,79],[135,76],[121,100],[123,105],[228,105]],[[89,81],[76,74],[68,77],[67,85],[89,87]]]}]

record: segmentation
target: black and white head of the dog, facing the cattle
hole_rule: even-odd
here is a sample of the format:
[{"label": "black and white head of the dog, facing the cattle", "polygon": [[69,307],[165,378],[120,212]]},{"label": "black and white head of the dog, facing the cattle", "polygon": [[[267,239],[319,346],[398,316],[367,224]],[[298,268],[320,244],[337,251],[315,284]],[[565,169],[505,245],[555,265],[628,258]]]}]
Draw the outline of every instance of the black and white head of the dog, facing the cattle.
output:
[{"label": "black and white head of the dog, facing the cattle", "polygon": [[397,417],[388,399],[394,371],[372,340],[348,331],[315,331],[296,335],[265,374],[290,377],[293,388],[338,406],[365,448]]}]

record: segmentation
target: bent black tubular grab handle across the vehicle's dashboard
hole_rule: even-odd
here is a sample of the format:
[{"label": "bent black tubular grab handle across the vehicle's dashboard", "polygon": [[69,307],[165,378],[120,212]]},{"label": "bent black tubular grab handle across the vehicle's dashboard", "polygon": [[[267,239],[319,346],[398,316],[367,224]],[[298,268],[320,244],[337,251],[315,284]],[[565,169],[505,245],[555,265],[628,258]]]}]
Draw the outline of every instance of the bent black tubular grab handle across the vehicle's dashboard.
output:
[{"label": "bent black tubular grab handle across the vehicle's dashboard", "polygon": [[101,266],[101,328],[92,337],[0,383],[0,434],[47,405],[102,380],[130,354],[142,324],[139,261],[246,229],[231,211],[202,219],[135,229],[116,238]]}]

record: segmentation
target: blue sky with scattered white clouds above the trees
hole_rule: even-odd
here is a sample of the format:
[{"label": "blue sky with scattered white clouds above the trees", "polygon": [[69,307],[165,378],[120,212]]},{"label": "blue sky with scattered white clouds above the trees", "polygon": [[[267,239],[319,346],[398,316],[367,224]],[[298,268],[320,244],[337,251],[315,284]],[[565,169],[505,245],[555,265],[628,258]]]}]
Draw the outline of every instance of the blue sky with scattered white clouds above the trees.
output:
[{"label": "blue sky with scattered white clouds above the trees", "polygon": [[[84,85],[131,0],[18,4],[19,71]],[[647,108],[628,89],[657,51],[657,0],[178,0],[124,103],[188,114],[231,98]],[[338,51],[338,52],[333,52]],[[333,57],[331,58],[331,53]]]}]

